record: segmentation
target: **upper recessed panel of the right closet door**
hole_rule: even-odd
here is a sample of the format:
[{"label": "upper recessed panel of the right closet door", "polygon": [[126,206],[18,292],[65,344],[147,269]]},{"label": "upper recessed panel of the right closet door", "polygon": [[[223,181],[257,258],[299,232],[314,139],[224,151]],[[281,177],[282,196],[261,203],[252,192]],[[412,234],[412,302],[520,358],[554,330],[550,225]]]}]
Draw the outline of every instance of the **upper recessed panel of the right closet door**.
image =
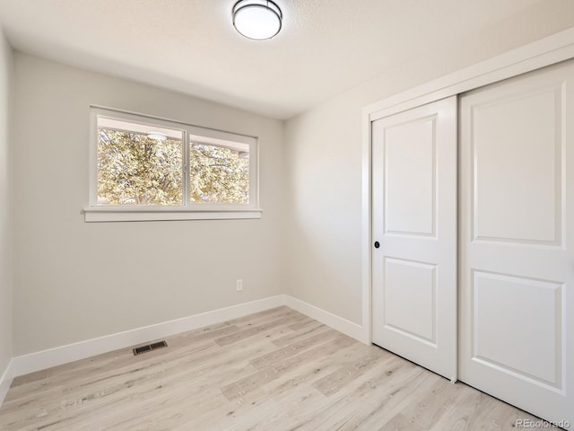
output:
[{"label": "upper recessed panel of the right closet door", "polygon": [[472,106],[474,239],[560,243],[561,99],[557,83]]}]

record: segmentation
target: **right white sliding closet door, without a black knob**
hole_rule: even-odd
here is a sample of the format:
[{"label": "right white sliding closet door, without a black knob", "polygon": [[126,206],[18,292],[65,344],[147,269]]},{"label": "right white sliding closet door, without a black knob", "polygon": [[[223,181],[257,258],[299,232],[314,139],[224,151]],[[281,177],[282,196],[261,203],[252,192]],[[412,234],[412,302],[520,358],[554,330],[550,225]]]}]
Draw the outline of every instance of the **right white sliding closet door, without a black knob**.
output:
[{"label": "right white sliding closet door, without a black knob", "polygon": [[459,378],[574,425],[574,65],[462,95]]}]

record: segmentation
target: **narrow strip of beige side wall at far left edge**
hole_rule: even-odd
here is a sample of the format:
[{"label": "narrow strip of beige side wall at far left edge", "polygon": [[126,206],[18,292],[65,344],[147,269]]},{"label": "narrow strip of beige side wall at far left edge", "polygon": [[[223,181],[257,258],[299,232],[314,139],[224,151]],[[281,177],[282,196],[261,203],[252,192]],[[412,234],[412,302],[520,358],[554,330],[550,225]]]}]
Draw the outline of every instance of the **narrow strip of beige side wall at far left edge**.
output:
[{"label": "narrow strip of beige side wall at far left edge", "polygon": [[0,28],[0,376],[12,359],[12,207],[8,163],[12,69],[12,48]]}]

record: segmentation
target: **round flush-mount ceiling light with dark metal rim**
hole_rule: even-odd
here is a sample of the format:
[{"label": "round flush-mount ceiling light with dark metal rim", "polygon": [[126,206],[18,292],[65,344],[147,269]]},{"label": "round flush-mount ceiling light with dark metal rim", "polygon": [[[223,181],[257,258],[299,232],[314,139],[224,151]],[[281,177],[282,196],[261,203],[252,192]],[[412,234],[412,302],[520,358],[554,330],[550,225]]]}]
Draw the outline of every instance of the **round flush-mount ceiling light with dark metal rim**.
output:
[{"label": "round flush-mount ceiling light with dark metal rim", "polygon": [[248,39],[271,39],[282,22],[283,13],[271,0],[239,0],[233,5],[233,26]]}]

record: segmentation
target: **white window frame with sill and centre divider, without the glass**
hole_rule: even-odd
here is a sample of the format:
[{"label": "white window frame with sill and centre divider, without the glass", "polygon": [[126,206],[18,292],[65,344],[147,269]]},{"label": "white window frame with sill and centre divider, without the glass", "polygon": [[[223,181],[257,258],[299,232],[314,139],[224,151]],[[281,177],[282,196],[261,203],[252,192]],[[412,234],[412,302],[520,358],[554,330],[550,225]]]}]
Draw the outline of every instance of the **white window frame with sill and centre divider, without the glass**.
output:
[{"label": "white window frame with sill and centre divider, without the glass", "polygon": [[[98,204],[98,117],[125,120],[156,128],[172,128],[182,132],[182,192],[181,206],[128,206]],[[191,139],[190,136],[197,136]],[[246,204],[194,204],[188,201],[189,145],[201,142],[213,145],[214,140],[249,145],[249,198]],[[211,142],[210,142],[211,141]],[[184,122],[162,119],[126,110],[90,106],[89,204],[83,208],[85,222],[161,221],[161,220],[221,220],[261,218],[259,208],[259,145],[255,136],[241,135]]]}]

